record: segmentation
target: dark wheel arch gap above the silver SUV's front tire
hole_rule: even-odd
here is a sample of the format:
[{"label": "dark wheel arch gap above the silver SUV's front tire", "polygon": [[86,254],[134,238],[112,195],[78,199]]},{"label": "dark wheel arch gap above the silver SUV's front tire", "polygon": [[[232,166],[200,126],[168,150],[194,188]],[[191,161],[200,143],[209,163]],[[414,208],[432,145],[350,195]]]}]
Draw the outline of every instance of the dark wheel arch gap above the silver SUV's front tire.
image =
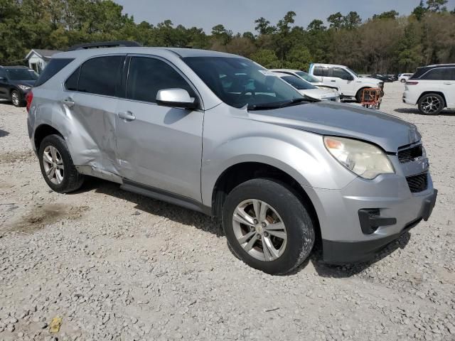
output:
[{"label": "dark wheel arch gap above the silver SUV's front tire", "polygon": [[316,229],[317,239],[321,239],[321,227],[319,226],[319,217],[316,212],[314,203],[311,201],[306,190],[295,180],[289,173],[283,171],[276,166],[271,166],[267,163],[256,161],[247,161],[236,163],[227,168],[215,182],[212,194],[212,215],[221,217],[223,204],[228,197],[228,194],[237,185],[244,183],[247,180],[255,178],[268,178],[283,183],[290,188],[294,194],[301,200],[303,205],[306,205],[307,210],[311,215],[314,227]]}]

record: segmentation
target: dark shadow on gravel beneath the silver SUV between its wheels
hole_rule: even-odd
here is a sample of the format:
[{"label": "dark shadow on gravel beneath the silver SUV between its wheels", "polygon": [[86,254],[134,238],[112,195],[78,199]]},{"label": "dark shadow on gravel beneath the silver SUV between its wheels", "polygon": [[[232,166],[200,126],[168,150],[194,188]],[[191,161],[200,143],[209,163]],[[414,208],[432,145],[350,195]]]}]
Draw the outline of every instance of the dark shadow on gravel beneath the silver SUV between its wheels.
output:
[{"label": "dark shadow on gravel beneath the silver SUV between its wheels", "polygon": [[168,202],[154,200],[151,197],[122,190],[119,188],[117,183],[87,177],[84,185],[82,185],[82,188],[73,193],[85,193],[89,190],[95,190],[95,193],[102,193],[133,202],[135,204],[134,208],[139,212],[166,217],[168,220],[172,220],[173,222],[194,226],[205,232],[213,233],[217,237],[224,236],[223,228],[221,227],[221,223],[218,219],[208,217],[200,212],[188,210],[184,207],[169,204]]}]

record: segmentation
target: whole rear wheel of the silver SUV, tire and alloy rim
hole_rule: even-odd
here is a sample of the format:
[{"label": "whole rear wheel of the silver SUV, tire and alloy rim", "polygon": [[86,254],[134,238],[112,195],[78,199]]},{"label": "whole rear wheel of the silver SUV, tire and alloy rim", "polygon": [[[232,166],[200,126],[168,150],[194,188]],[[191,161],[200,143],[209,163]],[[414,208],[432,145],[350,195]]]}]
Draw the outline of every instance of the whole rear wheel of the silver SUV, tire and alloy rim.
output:
[{"label": "whole rear wheel of the silver SUV, tire and alloy rim", "polygon": [[82,186],[84,175],[77,172],[62,136],[46,136],[41,141],[38,157],[43,178],[55,192],[69,193]]}]

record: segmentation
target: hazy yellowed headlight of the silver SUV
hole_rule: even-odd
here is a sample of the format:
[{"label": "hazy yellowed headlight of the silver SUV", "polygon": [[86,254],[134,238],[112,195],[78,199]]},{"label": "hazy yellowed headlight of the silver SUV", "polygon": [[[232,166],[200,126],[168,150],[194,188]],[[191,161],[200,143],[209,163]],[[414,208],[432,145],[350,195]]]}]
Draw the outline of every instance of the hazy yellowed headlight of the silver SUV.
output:
[{"label": "hazy yellowed headlight of the silver SUV", "polygon": [[373,144],[336,136],[324,136],[324,144],[339,163],[362,178],[395,173],[387,155]]}]

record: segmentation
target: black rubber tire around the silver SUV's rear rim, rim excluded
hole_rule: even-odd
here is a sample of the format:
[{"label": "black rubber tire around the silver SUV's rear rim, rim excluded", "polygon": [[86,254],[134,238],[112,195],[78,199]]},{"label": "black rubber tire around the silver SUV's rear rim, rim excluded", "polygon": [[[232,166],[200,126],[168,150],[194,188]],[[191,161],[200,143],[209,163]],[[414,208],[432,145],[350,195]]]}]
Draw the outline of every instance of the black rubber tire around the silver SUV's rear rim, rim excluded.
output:
[{"label": "black rubber tire around the silver SUV's rear rim, rim excluded", "polygon": [[[56,184],[53,183],[49,178],[48,175],[45,173],[44,168],[44,151],[45,148],[48,146],[53,146],[58,150],[60,156],[63,160],[63,180],[61,183]],[[70,151],[68,151],[68,146],[66,145],[65,139],[63,139],[60,135],[49,135],[46,136],[43,141],[41,141],[40,148],[38,151],[38,158],[41,167],[41,173],[43,174],[43,178],[48,186],[58,193],[70,193],[75,190],[78,190],[82,183],[84,183],[84,175],[77,172],[73,159],[71,158]]]}]

